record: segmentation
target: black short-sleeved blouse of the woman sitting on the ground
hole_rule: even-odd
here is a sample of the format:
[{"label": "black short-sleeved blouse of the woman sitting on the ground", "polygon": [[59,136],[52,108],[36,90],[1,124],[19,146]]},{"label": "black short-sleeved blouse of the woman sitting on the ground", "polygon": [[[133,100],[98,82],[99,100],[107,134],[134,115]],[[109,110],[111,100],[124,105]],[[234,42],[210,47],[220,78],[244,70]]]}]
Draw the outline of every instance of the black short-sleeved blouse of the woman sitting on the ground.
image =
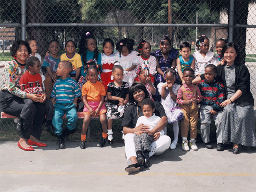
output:
[{"label": "black short-sleeved blouse of the woman sitting on the ground", "polygon": [[[163,116],[166,116],[165,110],[163,109],[163,105],[160,102],[154,102],[155,104],[155,115],[162,118]],[[138,111],[137,111],[138,108]],[[138,114],[139,116],[143,116],[143,112],[141,110],[141,107],[135,104],[130,104],[125,113],[124,118],[122,120],[122,126],[123,127],[129,127],[129,128],[135,128],[137,120],[138,120]]]}]

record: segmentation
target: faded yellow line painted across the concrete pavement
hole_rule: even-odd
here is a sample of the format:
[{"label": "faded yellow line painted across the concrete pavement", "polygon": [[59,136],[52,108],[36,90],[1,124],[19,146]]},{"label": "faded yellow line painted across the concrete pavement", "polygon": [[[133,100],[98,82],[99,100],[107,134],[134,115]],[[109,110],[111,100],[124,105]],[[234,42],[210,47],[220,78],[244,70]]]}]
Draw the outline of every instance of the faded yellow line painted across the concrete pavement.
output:
[{"label": "faded yellow line painted across the concrete pavement", "polygon": [[[120,173],[70,173],[70,172],[21,172],[21,171],[0,171],[0,174],[23,174],[23,175],[128,175],[126,172]],[[248,173],[144,173],[140,172],[136,175],[156,176],[256,176],[256,174]]]}]

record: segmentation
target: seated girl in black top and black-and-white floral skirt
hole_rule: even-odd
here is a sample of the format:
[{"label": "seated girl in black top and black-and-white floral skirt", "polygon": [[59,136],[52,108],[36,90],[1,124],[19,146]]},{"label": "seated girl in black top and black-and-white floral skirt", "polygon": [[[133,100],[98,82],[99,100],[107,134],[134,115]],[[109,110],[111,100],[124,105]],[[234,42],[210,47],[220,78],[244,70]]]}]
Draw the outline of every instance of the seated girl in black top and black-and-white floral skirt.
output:
[{"label": "seated girl in black top and black-and-white floral skirt", "polygon": [[126,107],[128,107],[129,85],[122,81],[124,70],[121,65],[114,65],[112,69],[113,82],[108,84],[106,102],[108,118],[108,142],[113,144],[113,119],[119,119],[124,116]]}]

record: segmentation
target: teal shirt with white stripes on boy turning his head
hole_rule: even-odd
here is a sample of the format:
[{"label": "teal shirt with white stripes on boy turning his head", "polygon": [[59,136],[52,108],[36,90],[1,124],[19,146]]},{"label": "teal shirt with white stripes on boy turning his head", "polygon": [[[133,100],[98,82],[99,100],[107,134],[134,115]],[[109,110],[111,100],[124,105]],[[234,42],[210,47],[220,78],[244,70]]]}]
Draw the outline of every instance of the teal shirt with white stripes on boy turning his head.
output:
[{"label": "teal shirt with white stripes on boy turning his head", "polygon": [[78,83],[68,77],[67,79],[57,79],[52,89],[52,98],[56,98],[56,103],[68,104],[73,103],[74,98],[81,96]]}]

